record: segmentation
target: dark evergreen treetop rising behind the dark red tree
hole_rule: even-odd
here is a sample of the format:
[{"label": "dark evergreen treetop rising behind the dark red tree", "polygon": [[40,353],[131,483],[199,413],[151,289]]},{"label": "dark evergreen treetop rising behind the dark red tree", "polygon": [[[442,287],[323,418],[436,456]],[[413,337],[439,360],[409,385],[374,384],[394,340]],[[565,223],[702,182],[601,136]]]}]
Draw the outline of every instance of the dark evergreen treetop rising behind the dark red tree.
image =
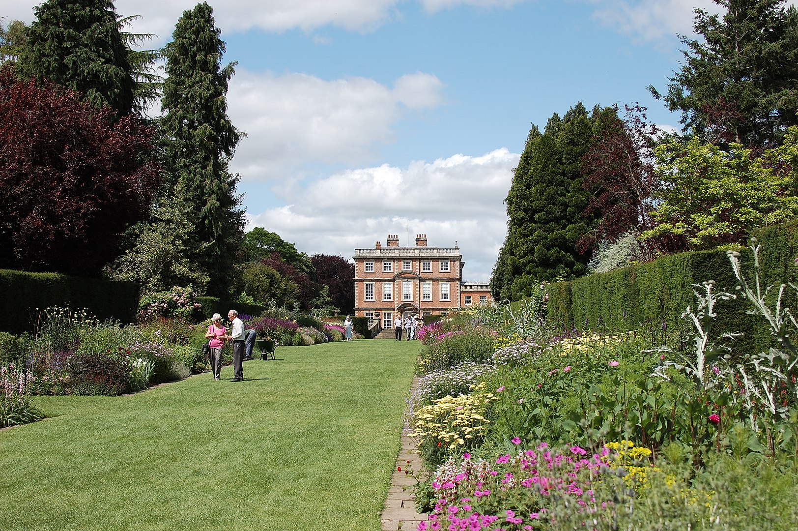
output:
[{"label": "dark evergreen treetop rising behind the dark red tree", "polygon": [[133,108],[134,73],[111,0],[48,0],[34,8],[18,73],[47,79],[120,116]]}]

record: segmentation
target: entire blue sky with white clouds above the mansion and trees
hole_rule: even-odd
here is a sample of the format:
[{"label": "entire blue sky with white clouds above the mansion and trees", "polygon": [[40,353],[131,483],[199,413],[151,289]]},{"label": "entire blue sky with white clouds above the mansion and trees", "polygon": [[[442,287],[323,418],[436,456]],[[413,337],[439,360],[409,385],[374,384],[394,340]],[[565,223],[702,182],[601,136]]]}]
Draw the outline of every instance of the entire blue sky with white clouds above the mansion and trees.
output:
[{"label": "entire blue sky with white clouds above the mansion and trees", "polygon": [[[30,23],[22,0],[7,20]],[[310,255],[458,242],[464,279],[488,280],[504,197],[530,128],[584,105],[654,101],[679,68],[677,34],[710,0],[226,0],[213,2],[238,61],[228,114],[247,133],[231,169],[249,224]],[[118,0],[132,30],[169,40],[196,2]],[[157,113],[157,111],[154,111]]]}]

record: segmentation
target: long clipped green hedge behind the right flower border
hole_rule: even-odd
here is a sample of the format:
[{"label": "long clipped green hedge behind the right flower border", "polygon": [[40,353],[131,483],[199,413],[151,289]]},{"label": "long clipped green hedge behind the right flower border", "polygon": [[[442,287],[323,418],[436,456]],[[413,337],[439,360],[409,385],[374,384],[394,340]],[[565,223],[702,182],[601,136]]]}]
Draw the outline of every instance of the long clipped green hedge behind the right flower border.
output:
[{"label": "long clipped green hedge behind the right flower border", "polygon": [[[762,228],[753,236],[761,246],[762,286],[775,286],[768,295],[772,299],[780,283],[795,282],[798,276],[798,222]],[[753,283],[753,252],[746,248],[741,255],[744,273]],[[695,308],[693,290],[702,291],[693,284],[710,279],[715,281],[716,292],[736,291],[737,279],[725,251],[684,252],[648,264],[554,283],[549,290],[548,320],[568,330],[627,331],[643,327],[652,334],[667,336],[671,343],[683,344],[692,337],[693,329],[681,314],[688,306]],[[785,301],[789,307],[796,307],[792,289],[788,289]],[[741,299],[718,303],[715,330],[743,332],[743,337],[733,342],[735,351],[762,351],[772,338],[761,318],[746,314],[747,309],[748,304]]]}]

